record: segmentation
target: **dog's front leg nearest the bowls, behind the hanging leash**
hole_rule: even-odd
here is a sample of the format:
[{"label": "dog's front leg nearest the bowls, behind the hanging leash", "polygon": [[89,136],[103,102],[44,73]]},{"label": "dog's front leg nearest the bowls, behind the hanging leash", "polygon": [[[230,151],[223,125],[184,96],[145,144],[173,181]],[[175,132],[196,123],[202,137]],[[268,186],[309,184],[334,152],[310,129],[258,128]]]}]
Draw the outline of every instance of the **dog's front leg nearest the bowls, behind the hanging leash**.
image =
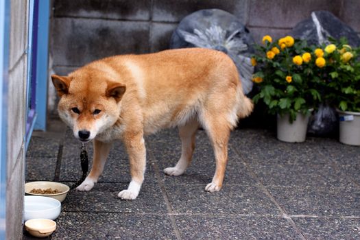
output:
[{"label": "dog's front leg nearest the bowls, behind the hanging leash", "polygon": [[94,140],[94,158],[93,167],[91,167],[90,173],[85,178],[84,182],[80,184],[76,189],[79,191],[90,191],[93,189],[94,184],[99,179],[99,176],[104,171],[106,159],[108,158],[111,148],[111,143],[103,143]]}]

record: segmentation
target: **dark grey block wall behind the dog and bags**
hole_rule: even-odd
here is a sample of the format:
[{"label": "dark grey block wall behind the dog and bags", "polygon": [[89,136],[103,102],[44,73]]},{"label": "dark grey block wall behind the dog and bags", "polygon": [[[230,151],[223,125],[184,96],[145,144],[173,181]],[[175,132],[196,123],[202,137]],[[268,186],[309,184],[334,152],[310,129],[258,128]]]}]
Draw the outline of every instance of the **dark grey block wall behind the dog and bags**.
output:
[{"label": "dark grey block wall behind the dog and bags", "polygon": [[53,0],[53,70],[67,74],[97,58],[167,49],[181,19],[206,8],[235,14],[258,43],[265,34],[284,36],[315,10],[360,32],[359,0]]}]

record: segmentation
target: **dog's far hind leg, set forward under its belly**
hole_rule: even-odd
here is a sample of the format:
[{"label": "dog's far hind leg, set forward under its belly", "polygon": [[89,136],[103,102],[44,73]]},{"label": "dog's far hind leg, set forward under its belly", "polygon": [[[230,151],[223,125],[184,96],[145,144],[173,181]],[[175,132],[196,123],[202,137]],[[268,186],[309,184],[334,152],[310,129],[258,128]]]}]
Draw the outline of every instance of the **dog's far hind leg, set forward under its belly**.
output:
[{"label": "dog's far hind leg, set forward under its belly", "polygon": [[193,152],[195,149],[195,134],[199,123],[197,119],[191,119],[184,126],[179,127],[179,135],[181,139],[181,156],[175,167],[167,167],[164,172],[167,175],[179,176],[187,169],[191,163]]}]

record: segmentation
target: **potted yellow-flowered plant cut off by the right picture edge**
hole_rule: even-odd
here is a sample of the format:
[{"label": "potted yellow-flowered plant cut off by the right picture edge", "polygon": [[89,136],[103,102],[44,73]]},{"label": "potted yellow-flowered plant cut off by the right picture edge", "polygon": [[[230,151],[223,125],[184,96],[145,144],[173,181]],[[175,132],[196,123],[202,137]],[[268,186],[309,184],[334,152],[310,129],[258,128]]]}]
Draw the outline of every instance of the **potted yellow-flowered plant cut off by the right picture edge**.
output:
[{"label": "potted yellow-flowered plant cut off by the right picture edge", "polygon": [[324,52],[325,98],[339,113],[339,141],[360,145],[360,47],[352,48],[342,38]]}]

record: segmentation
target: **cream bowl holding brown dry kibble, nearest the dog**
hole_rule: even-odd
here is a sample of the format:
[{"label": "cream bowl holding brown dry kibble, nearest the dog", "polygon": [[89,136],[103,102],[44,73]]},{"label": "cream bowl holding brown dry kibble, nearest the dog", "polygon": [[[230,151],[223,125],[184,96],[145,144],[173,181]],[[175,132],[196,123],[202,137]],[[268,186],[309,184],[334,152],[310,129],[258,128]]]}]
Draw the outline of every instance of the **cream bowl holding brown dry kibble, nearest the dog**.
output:
[{"label": "cream bowl holding brown dry kibble, nearest the dog", "polygon": [[[58,190],[58,193],[31,193],[31,191],[35,189],[45,190]],[[43,196],[43,197],[52,197],[60,202],[64,201],[65,197],[67,197],[67,192],[70,190],[69,186],[62,184],[60,182],[27,182],[25,183],[25,193],[29,195]]]}]

